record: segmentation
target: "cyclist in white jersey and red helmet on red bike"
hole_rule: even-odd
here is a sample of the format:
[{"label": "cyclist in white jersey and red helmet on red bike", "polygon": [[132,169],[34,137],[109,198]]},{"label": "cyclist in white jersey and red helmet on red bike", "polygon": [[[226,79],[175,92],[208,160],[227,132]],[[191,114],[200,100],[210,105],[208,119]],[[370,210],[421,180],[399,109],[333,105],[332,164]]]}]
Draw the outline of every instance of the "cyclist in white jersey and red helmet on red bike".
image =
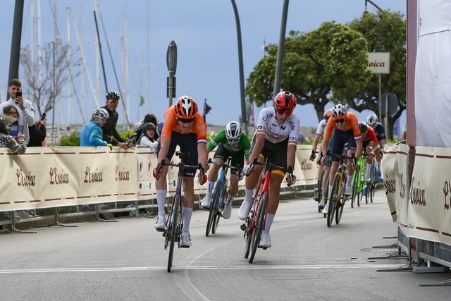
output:
[{"label": "cyclist in white jersey and red helmet on red bike", "polygon": [[[262,109],[259,114],[257,131],[252,138],[251,154],[249,163],[258,158],[264,162],[265,157],[270,155],[271,162],[277,166],[287,168],[290,176],[287,177],[289,184],[294,184],[295,176],[292,171],[295,166],[295,153],[297,140],[299,140],[299,118],[293,114],[296,106],[296,98],[290,92],[280,92],[274,98],[274,105]],[[246,177],[245,200],[238,211],[238,218],[244,221],[252,205],[254,188],[259,183],[260,173],[263,166],[254,166]],[[243,168],[243,173],[249,173],[249,165]],[[268,207],[266,208],[266,223],[261,233],[260,247],[264,249],[271,247],[269,231],[273,223],[279,204],[280,184],[285,177],[285,171],[274,169],[272,171],[271,183],[269,183]]]}]

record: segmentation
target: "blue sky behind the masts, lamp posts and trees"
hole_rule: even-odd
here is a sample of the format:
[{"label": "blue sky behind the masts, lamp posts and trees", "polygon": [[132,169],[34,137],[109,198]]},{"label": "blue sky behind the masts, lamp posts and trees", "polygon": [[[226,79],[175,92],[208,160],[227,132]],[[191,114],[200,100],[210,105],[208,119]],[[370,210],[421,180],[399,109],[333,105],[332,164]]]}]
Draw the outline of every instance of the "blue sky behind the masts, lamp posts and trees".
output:
[{"label": "blue sky behind the masts, lamp posts and trees", "polygon": [[[15,2],[2,0],[2,10],[6,12],[0,20],[1,28],[4,29],[0,32],[1,39],[6,41],[4,47],[0,49],[0,66],[4,66],[4,72],[0,74],[2,101],[6,99],[8,84],[7,69]],[[27,0],[23,13],[22,47],[32,43],[32,25],[37,23],[32,20],[31,12],[34,12],[34,16],[37,15],[36,8],[39,2],[42,44],[54,40],[52,15],[54,0]],[[283,0],[235,0],[235,2],[240,18],[246,83],[254,66],[264,56],[262,46],[278,43]],[[373,2],[382,9],[399,11],[406,15],[406,0],[373,0]],[[206,116],[207,123],[226,125],[229,121],[238,120],[241,113],[240,75],[237,29],[231,1],[58,0],[56,1],[58,32],[63,42],[67,42],[70,37],[73,48],[80,48],[78,41],[81,41],[82,51],[78,51],[78,56],[81,52],[84,54],[87,70],[75,81],[75,87],[65,87],[63,90],[63,95],[58,100],[55,123],[82,123],[82,115],[84,120],[88,121],[94,107],[105,103],[105,82],[100,60],[96,59],[96,56],[99,58],[96,54],[98,46],[95,43],[97,35],[93,13],[96,3],[106,83],[108,90],[118,91],[119,86],[121,87],[130,123],[140,123],[146,113],[154,113],[160,120],[163,119],[164,111],[169,106],[166,97],[168,76],[166,51],[172,40],[177,42],[178,47],[176,97],[173,102],[186,94],[194,98],[202,112],[204,99],[207,99],[212,108]],[[68,8],[71,18],[68,18]],[[360,18],[364,10],[364,0],[292,0],[288,6],[285,36],[288,36],[290,30],[301,32],[316,30],[326,21],[348,23]],[[367,10],[371,13],[377,12],[369,3]],[[36,44],[37,39],[34,41]],[[121,44],[125,44],[124,51]],[[20,77],[23,68],[22,66],[19,68]],[[128,76],[125,76],[126,74]],[[128,80],[121,80],[123,75]],[[80,105],[74,97],[68,97],[68,90],[76,91]],[[141,96],[146,102],[144,106],[139,106]],[[119,105],[118,111],[119,123],[123,123],[125,121],[123,103]],[[258,112],[257,108],[255,118],[258,117]],[[316,127],[318,124],[311,104],[297,106],[295,113],[301,120],[301,126]],[[364,111],[358,115],[359,118],[366,119],[369,113],[371,112]],[[48,112],[47,116],[49,114],[51,115],[51,112]],[[49,117],[47,118],[51,122]],[[405,113],[400,122],[405,123]]]}]

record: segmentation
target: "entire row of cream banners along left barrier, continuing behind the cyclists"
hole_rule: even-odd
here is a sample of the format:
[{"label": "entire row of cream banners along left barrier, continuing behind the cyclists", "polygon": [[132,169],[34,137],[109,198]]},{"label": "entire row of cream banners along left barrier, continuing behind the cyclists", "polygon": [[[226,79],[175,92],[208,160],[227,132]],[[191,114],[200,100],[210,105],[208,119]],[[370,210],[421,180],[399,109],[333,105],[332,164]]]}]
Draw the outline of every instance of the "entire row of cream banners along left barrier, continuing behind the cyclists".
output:
[{"label": "entire row of cream banners along left barrier, continuing behind the cyclists", "polygon": [[[296,185],[316,183],[318,166],[309,161],[310,153],[309,145],[297,146]],[[173,156],[173,162],[178,160]],[[21,155],[0,148],[0,164],[0,211],[156,198],[152,171],[157,158],[147,147],[30,147]],[[178,168],[169,168],[168,197],[175,193],[177,173]],[[239,187],[244,190],[244,178]],[[194,193],[202,195],[205,188],[196,176]]]}]

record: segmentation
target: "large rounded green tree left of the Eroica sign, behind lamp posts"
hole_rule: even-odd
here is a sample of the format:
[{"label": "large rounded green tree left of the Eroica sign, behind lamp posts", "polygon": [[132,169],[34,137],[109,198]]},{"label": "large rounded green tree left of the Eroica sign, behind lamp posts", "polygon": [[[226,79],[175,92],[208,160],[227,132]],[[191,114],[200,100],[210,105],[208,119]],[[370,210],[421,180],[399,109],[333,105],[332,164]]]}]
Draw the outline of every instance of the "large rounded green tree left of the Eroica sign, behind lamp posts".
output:
[{"label": "large rounded green tree left of the Eroica sign, behind lamp posts", "polygon": [[[285,39],[282,89],[295,94],[298,104],[313,104],[321,120],[326,104],[346,102],[364,90],[369,79],[366,49],[361,33],[335,22],[308,33],[292,31]],[[277,45],[268,45],[266,54],[246,87],[249,99],[259,106],[272,98]]]}]

